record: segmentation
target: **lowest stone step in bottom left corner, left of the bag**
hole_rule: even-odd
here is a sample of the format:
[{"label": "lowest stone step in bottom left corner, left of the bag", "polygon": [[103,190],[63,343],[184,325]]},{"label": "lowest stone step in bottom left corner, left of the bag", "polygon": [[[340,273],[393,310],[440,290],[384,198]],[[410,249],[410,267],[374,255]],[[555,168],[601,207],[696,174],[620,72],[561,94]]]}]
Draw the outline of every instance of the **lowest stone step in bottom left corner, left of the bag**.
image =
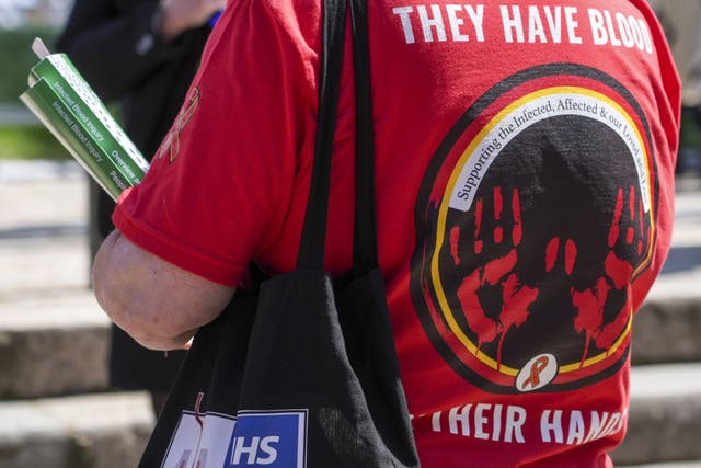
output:
[{"label": "lowest stone step in bottom left corner, left of the bag", "polygon": [[0,467],[136,467],[150,404],[145,392],[0,402]]}]

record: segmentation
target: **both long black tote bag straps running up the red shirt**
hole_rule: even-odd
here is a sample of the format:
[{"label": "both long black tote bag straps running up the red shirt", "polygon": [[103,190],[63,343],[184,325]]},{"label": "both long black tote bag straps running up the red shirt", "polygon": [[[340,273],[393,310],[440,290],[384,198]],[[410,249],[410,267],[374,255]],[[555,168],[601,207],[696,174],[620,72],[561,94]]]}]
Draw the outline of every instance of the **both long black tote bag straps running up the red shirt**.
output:
[{"label": "both long black tote bag straps running up the red shirt", "polygon": [[[333,136],[336,124],[346,21],[346,0],[324,0],[320,104],[314,165],[307,204],[298,269],[321,270],[326,235]],[[375,132],[370,92],[367,5],[350,1],[356,91],[356,201],[353,272],[357,276],[375,269],[377,214],[375,192]]]}]

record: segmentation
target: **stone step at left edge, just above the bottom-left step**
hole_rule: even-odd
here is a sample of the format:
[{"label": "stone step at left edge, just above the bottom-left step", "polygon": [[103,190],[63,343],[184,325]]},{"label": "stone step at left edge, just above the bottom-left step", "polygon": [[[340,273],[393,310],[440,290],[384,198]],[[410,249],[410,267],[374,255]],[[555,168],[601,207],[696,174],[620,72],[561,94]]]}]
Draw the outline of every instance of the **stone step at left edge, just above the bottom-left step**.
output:
[{"label": "stone step at left edge, just above the bottom-left step", "polygon": [[87,289],[0,301],[0,398],[104,390],[108,331]]}]

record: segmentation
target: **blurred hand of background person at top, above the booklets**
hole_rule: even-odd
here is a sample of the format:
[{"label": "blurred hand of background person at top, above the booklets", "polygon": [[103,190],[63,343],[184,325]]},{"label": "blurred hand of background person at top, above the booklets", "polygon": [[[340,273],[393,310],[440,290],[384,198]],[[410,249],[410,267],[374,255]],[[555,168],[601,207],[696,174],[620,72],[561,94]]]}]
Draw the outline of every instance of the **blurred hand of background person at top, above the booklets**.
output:
[{"label": "blurred hand of background person at top, above the booklets", "polygon": [[187,30],[202,26],[226,4],[226,0],[163,0],[161,37],[170,41]]}]

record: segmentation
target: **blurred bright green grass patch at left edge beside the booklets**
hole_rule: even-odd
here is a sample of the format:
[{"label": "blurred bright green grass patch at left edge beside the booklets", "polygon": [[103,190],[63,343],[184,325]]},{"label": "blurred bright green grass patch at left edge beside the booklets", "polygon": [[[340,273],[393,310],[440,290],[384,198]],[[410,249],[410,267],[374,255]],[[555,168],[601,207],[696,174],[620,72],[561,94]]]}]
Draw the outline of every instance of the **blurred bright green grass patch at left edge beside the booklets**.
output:
[{"label": "blurred bright green grass patch at left edge beside the booklets", "polygon": [[0,126],[0,160],[69,158],[68,151],[43,126]]}]

